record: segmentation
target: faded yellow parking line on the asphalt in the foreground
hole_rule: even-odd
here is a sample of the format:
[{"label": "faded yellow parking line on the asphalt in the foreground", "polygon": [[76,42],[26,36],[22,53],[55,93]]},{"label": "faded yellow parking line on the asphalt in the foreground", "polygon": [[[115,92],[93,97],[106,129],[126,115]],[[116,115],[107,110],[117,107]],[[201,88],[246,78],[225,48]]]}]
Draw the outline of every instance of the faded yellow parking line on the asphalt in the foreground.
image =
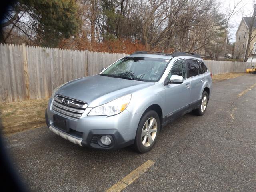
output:
[{"label": "faded yellow parking line on the asphalt in the foreground", "polygon": [[148,160],[136,170],[129,173],[127,176],[125,176],[122,180],[114,184],[112,187],[110,187],[106,192],[120,192],[124,188],[126,188],[128,185],[130,185],[132,182],[134,182],[136,179],[138,179],[144,172],[148,170],[152,165],[154,165],[154,161]]}]

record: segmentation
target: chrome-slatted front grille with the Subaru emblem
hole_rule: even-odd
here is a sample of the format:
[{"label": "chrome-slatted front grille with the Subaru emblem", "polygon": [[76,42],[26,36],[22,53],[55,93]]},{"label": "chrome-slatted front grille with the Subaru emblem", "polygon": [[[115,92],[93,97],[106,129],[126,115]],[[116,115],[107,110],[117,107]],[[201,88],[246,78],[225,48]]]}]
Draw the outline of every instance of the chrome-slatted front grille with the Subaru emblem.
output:
[{"label": "chrome-slatted front grille with the Subaru emblem", "polygon": [[87,106],[85,102],[56,95],[53,100],[52,110],[65,116],[79,119]]}]

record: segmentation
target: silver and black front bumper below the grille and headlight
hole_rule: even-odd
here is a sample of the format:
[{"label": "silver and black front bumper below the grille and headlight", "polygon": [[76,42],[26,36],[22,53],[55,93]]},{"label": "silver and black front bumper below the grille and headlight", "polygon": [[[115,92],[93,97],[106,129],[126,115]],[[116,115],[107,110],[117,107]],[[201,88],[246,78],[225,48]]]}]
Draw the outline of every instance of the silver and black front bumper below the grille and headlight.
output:
[{"label": "silver and black front bumper below the grille and headlight", "polygon": [[[53,115],[58,114],[51,110],[50,102],[45,112],[46,124],[55,134],[89,148],[118,149],[134,143],[138,123],[142,113],[131,114],[127,110],[114,116],[87,116],[83,114],[79,120],[67,118],[69,132],[65,132],[53,124]],[[62,114],[58,114],[63,116]],[[100,142],[101,136],[108,136],[112,143],[104,146]]]}]

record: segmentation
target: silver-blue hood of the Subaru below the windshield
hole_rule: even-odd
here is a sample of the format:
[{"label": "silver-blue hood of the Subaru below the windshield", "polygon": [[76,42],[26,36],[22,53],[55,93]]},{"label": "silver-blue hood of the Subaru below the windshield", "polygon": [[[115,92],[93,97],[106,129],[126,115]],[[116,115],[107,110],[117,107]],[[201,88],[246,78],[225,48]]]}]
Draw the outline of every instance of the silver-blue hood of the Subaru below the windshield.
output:
[{"label": "silver-blue hood of the Subaru below the windshield", "polygon": [[154,85],[152,82],[94,75],[72,80],[61,86],[56,94],[80,100],[88,103],[89,107],[95,107],[152,85]]}]

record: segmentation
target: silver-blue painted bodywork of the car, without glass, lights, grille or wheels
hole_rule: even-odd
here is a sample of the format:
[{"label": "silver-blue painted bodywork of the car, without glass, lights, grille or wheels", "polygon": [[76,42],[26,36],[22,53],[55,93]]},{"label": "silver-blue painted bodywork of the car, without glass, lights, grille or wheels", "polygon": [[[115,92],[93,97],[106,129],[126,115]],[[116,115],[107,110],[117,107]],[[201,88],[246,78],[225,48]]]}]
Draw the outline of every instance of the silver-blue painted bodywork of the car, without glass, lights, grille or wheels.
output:
[{"label": "silver-blue painted bodywork of the car, without glass, lights, grille or wheels", "polygon": [[[134,55],[130,57],[132,56]],[[69,119],[69,126],[72,129],[84,133],[83,140],[86,140],[90,130],[104,129],[117,129],[124,137],[124,140],[133,140],[140,118],[149,106],[153,104],[160,106],[163,116],[166,116],[196,99],[199,100],[206,86],[210,88],[211,93],[212,80],[209,71],[199,76],[187,78],[182,84],[164,85],[164,80],[174,62],[181,58],[191,59],[193,58],[191,56],[173,58],[172,56],[138,54],[136,57],[165,58],[170,62],[160,80],[155,83],[94,75],[68,82],[56,91],[55,94],[61,94],[88,103],[88,108],[79,120]],[[201,60],[199,58],[194,59]],[[201,82],[200,80],[203,78],[204,82]],[[190,82],[192,84],[187,88],[186,85],[190,84]],[[194,88],[196,88],[196,91],[193,90]],[[126,94],[132,94],[132,97],[126,110],[120,114],[109,117],[87,116],[93,107],[110,102]],[[47,109],[50,124],[53,123],[53,115],[56,114],[51,109],[52,99],[49,100]]]}]

